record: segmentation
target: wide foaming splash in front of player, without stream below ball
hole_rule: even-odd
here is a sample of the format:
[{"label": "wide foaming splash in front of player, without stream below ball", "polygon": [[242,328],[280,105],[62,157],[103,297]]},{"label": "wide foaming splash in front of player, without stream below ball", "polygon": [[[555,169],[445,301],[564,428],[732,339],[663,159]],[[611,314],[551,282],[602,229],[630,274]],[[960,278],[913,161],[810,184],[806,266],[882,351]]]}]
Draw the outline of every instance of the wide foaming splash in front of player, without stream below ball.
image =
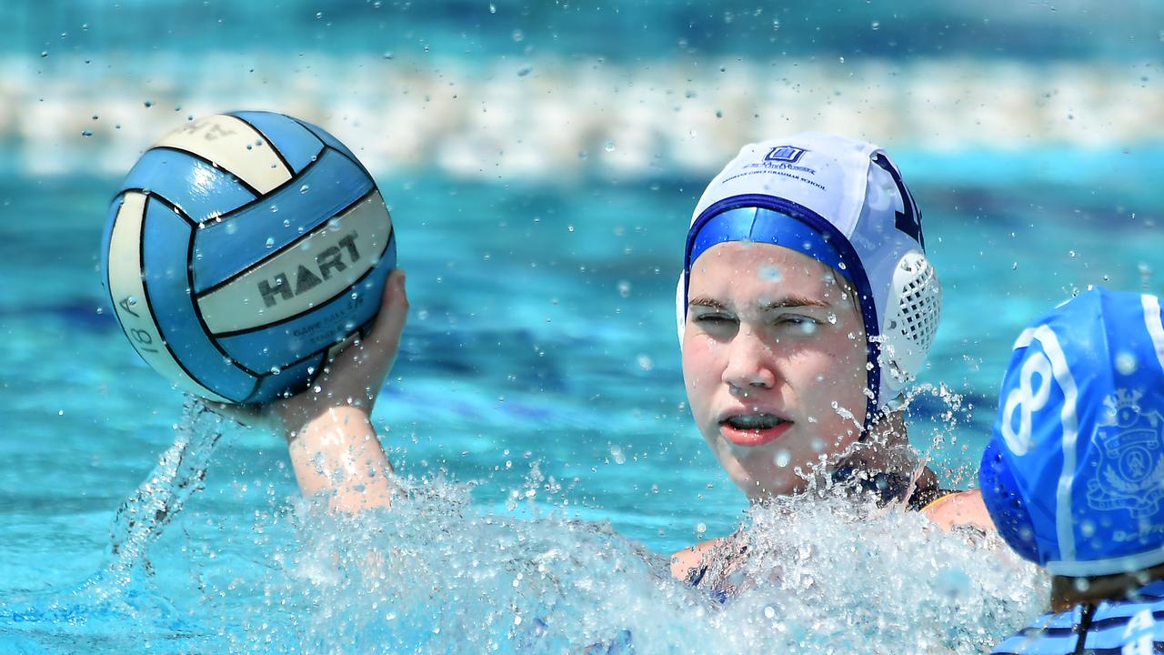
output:
[{"label": "wide foaming splash in front of player, without stream below ball", "polygon": [[751,510],[703,585],[730,587],[722,604],[609,524],[497,515],[441,480],[409,494],[356,517],[301,503],[300,548],[232,649],[972,653],[1046,591],[996,537],[837,493]]}]

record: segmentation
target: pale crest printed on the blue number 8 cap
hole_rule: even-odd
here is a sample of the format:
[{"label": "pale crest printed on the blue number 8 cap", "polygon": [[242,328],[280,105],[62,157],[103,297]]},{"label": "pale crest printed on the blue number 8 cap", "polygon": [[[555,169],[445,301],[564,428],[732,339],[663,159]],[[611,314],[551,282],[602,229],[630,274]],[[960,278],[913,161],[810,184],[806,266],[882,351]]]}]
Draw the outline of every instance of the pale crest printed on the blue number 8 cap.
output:
[{"label": "pale crest printed on the blue number 8 cap", "polygon": [[1095,509],[1127,509],[1135,519],[1155,514],[1164,500],[1164,416],[1143,411],[1142,392],[1116,389],[1103,401],[1098,478],[1087,483]]}]

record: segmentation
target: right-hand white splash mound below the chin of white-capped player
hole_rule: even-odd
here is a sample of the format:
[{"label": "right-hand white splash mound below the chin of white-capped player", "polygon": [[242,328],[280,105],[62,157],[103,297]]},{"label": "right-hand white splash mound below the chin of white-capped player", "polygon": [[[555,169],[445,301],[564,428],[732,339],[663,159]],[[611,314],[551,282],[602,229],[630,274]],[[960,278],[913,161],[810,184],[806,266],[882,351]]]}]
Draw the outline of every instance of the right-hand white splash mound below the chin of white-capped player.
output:
[{"label": "right-hand white splash mound below the chin of white-capped player", "polygon": [[[734,585],[723,626],[779,653],[979,653],[1046,598],[1037,569],[995,536],[945,533],[900,506],[782,498],[709,576]],[[908,563],[908,564],[907,564]],[[767,608],[772,608],[768,611]]]}]

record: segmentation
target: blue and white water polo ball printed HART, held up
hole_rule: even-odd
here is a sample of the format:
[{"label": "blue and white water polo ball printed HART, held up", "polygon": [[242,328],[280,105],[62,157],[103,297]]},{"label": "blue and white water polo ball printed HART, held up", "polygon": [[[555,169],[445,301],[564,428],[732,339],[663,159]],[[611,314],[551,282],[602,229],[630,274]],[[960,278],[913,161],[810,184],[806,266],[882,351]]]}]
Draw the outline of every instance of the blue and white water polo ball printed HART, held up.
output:
[{"label": "blue and white water polo ball printed HART, held up", "polygon": [[105,282],[129,343],[183,390],[261,403],[305,389],[379,310],[396,239],[355,155],[269,112],[162,138],[109,207]]}]

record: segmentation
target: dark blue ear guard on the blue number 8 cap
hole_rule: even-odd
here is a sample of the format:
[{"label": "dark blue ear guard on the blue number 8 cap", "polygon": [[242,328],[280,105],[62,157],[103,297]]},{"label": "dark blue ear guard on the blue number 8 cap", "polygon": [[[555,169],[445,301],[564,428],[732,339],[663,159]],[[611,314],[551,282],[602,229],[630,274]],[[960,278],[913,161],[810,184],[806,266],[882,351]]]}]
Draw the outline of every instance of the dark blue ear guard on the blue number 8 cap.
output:
[{"label": "dark blue ear guard on the blue number 8 cap", "polygon": [[1038,552],[1030,510],[995,439],[991,439],[982,452],[978,481],[982,490],[982,502],[1007,545],[1024,559],[1045,564],[1046,558]]}]

